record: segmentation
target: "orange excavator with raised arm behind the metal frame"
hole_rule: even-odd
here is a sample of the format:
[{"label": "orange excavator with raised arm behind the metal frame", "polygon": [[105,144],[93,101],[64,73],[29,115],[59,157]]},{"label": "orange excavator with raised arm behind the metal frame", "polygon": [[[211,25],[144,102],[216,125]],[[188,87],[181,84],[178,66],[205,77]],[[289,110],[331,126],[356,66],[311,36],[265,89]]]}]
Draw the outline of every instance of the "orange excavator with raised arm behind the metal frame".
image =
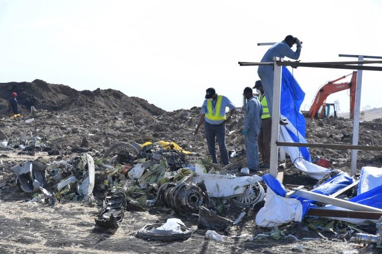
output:
[{"label": "orange excavator with raised arm behind the metal frame", "polygon": [[[350,75],[352,75],[350,82],[335,83]],[[356,88],[357,88],[357,71],[353,71],[353,73],[342,76],[333,81],[329,81],[318,90],[316,96],[314,97],[313,104],[310,107],[310,110],[308,112],[301,111],[301,113],[305,117],[310,117],[311,119],[325,118],[330,116],[336,117],[337,112],[336,112],[335,105],[333,103],[326,103],[326,98],[332,93],[350,89],[350,118],[353,119],[355,103],[356,103],[355,101]],[[334,113],[334,115],[332,113]]]}]

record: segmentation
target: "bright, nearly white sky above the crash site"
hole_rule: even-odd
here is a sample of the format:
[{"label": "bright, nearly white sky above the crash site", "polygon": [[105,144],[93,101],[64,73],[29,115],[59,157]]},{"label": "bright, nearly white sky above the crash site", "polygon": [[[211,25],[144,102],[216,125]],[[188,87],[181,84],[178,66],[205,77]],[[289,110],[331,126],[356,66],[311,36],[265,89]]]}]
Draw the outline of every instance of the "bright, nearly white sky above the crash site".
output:
[{"label": "bright, nearly white sky above the crash site", "polygon": [[[0,0],[0,82],[111,88],[166,111],[200,107],[214,87],[241,107],[259,77],[238,62],[260,62],[270,46],[257,43],[291,34],[303,42],[303,63],[382,57],[381,20],[380,0]],[[305,92],[301,110],[352,72],[288,68]],[[382,107],[381,80],[381,71],[363,71],[361,110]],[[348,95],[327,102],[349,112]]]}]

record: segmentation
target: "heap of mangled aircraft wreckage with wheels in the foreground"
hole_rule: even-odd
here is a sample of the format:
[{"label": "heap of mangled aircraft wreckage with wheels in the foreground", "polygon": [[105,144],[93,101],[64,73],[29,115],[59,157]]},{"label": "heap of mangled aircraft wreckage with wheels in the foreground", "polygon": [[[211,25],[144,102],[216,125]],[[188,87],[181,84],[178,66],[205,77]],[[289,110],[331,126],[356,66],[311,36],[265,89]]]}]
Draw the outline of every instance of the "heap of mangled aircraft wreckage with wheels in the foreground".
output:
[{"label": "heap of mangled aircraft wreckage with wheels in the foreground", "polygon": [[[50,164],[26,161],[11,170],[21,190],[34,193],[34,201],[54,205],[62,200],[82,200],[96,205],[94,196],[103,198],[95,224],[107,229],[119,227],[125,210],[165,205],[179,215],[199,212],[200,229],[228,230],[235,223],[216,215],[211,209],[216,202],[211,199],[230,199],[238,207],[254,206],[264,199],[261,177],[236,176],[211,163],[210,157],[190,165],[188,154],[174,142],[118,142],[103,158],[85,153]],[[137,236],[170,241],[187,239],[191,233],[181,220],[169,219],[163,225],[142,227]]]}]

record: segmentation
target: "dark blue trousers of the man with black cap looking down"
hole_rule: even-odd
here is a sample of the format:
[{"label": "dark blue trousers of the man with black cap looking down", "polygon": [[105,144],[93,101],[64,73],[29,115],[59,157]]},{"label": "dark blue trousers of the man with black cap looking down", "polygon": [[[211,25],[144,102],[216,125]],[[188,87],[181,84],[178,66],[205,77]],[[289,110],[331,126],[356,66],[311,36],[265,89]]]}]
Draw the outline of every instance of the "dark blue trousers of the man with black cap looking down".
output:
[{"label": "dark blue trousers of the man with black cap looking down", "polygon": [[225,125],[210,125],[204,121],[205,138],[207,139],[208,153],[212,157],[212,163],[217,164],[216,142],[219,145],[220,157],[223,165],[229,163],[228,151],[225,145]]}]

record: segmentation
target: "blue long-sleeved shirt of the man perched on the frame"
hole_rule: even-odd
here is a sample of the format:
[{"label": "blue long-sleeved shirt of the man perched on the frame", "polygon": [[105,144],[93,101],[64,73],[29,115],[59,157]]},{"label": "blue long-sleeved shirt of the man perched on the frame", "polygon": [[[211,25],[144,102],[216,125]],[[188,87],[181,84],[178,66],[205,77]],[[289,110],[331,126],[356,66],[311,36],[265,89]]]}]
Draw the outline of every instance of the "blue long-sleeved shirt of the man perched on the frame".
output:
[{"label": "blue long-sleeved shirt of the man perched on the frame", "polygon": [[[297,60],[300,57],[301,53],[301,44],[297,44],[297,49],[294,52],[289,45],[286,44],[285,41],[275,43],[271,48],[268,49],[268,51],[265,53],[264,57],[262,58],[261,62],[262,63],[273,63],[274,57],[279,57],[279,58],[290,58]],[[261,67],[263,65],[260,65]]]}]

